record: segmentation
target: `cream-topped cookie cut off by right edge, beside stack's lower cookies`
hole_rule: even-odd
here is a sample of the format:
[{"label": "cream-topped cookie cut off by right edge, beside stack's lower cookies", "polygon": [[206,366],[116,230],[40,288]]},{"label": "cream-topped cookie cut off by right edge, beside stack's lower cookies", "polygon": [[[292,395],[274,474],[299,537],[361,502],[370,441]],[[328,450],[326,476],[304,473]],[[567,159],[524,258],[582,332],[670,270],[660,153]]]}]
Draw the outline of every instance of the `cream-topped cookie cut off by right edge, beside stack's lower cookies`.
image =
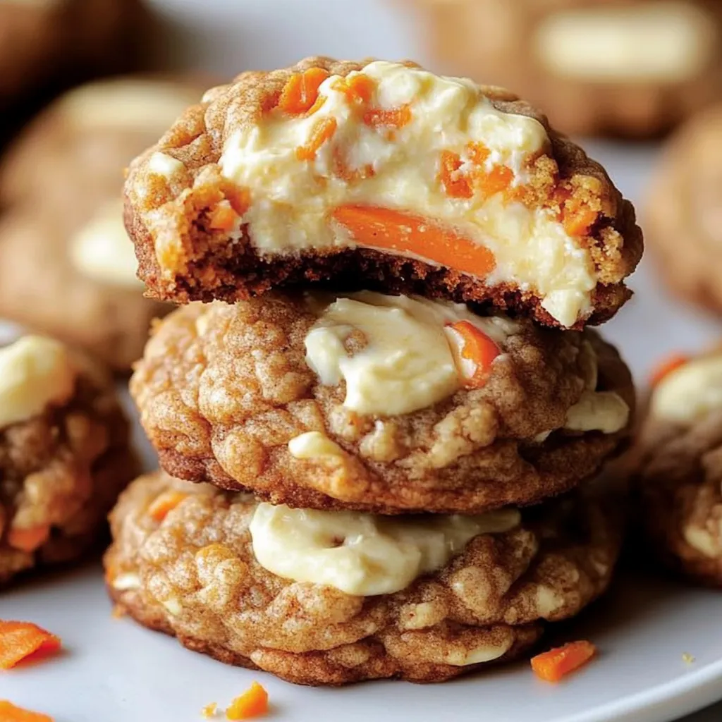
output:
[{"label": "cream-topped cookie cut off by right edge, beside stack's lower cookies", "polygon": [[666,565],[722,586],[722,352],[668,365],[633,455],[640,527]]}]

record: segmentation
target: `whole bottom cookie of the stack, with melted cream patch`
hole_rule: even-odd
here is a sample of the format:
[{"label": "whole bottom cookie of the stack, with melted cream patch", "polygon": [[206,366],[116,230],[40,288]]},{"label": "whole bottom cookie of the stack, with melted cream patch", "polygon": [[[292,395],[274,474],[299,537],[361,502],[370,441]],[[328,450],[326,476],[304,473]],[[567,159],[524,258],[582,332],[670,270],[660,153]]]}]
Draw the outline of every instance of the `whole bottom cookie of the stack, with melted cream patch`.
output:
[{"label": "whole bottom cookie of the stack, with melted cream patch", "polygon": [[621,508],[580,493],[471,521],[379,518],[159,471],[110,515],[106,579],[119,611],[227,664],[297,684],[441,682],[520,656],[596,599]]}]

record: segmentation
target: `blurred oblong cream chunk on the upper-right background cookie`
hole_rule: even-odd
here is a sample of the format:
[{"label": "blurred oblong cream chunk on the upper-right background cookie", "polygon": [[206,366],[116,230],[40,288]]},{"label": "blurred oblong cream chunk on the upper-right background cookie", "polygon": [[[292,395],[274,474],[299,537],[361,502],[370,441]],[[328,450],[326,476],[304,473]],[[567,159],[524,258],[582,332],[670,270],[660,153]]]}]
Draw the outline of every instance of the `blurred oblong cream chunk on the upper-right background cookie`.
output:
[{"label": "blurred oblong cream chunk on the upper-right background cookie", "polygon": [[532,48],[549,71],[587,82],[672,83],[713,58],[715,22],[679,1],[565,9],[541,21]]}]

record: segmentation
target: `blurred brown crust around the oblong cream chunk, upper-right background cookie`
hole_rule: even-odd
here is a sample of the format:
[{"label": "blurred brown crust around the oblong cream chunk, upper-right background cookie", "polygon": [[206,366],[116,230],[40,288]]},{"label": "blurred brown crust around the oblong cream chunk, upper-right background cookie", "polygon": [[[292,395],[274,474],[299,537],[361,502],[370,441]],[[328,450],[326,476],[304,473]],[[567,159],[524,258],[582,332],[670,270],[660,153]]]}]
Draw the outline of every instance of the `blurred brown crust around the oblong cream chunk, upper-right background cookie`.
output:
[{"label": "blurred brown crust around the oblong cream chunk, upper-right background cookie", "polygon": [[[623,27],[625,10],[656,4],[654,0],[409,3],[421,6],[431,52],[445,69],[513,88],[531,103],[543,105],[554,126],[568,134],[658,136],[722,97],[722,5],[718,0],[686,3],[707,14],[708,30],[716,32],[717,40],[708,63],[682,82],[629,82],[625,77],[595,82],[555,73],[534,54],[536,32],[556,14],[583,14],[584,9],[617,12],[617,24]],[[682,32],[679,27],[677,31]]]}]

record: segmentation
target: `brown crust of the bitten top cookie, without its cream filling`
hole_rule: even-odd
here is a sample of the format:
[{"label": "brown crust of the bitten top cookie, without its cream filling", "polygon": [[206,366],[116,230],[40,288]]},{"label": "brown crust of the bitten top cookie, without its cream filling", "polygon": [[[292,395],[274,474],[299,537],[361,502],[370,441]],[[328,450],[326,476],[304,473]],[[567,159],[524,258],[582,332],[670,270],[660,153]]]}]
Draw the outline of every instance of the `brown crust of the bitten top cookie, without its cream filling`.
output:
[{"label": "brown crust of the bitten top cookie, without its cream filling", "polygon": [[[486,287],[468,274],[369,249],[332,248],[323,253],[259,257],[245,227],[241,227],[240,239],[232,242],[227,232],[209,227],[211,210],[224,199],[234,205],[238,195],[218,165],[230,135],[256,123],[264,109],[273,107],[293,72],[318,66],[345,76],[362,69],[366,62],[306,58],[287,69],[240,74],[232,84],[206,93],[204,103],[188,108],[160,142],[134,160],[126,181],[126,227],[136,244],[139,275],[149,292],[177,303],[232,302],[282,285],[331,281],[336,287],[349,283],[357,287],[363,277],[365,287],[493,304],[526,313],[541,323],[559,325],[541,308],[541,299],[534,292],[510,284]],[[575,327],[586,321],[605,321],[629,297],[624,279],[642,254],[642,235],[632,205],[622,199],[598,163],[549,129],[547,119],[530,105],[502,88],[484,86],[481,92],[500,110],[536,118],[549,133],[551,158],[544,156],[543,162],[536,164],[530,192],[549,201],[549,187],[560,188],[573,201],[599,213],[584,239],[599,283],[592,292],[590,318],[579,318]],[[170,178],[154,173],[147,161],[157,151],[180,161],[183,168]],[[549,202],[553,209],[554,202]],[[560,201],[555,202],[560,211]],[[147,225],[149,217],[154,218],[155,235]],[[157,261],[158,234],[173,238],[176,270],[170,276]]]}]

